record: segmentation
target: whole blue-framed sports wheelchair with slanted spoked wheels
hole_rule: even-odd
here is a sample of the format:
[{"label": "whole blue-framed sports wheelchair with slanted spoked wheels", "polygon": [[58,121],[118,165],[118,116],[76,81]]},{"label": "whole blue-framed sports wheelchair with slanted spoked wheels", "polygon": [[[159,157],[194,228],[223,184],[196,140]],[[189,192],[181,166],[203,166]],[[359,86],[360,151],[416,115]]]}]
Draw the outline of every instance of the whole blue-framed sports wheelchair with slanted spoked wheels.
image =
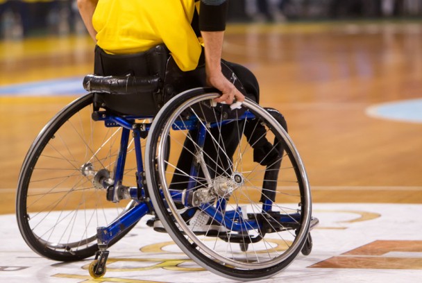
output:
[{"label": "whole blue-framed sports wheelchair with slanted spoked wheels", "polygon": [[[177,78],[170,60],[165,76]],[[318,220],[280,112],[161,81],[86,76],[87,94],[44,126],[17,185],[28,246],[56,261],[95,256],[89,271],[99,278],[108,248],[149,214],[192,260],[230,279],[271,277],[309,255]],[[270,146],[258,154],[262,140]]]}]

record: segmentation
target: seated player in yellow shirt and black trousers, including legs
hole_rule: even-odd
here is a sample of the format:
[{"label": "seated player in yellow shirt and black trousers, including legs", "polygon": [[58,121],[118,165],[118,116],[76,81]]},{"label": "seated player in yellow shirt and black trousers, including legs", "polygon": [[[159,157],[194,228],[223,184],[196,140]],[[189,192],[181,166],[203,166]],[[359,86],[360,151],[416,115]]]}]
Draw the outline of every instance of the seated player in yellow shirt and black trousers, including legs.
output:
[{"label": "seated player in yellow shirt and black trousers, including legs", "polygon": [[[181,71],[192,71],[205,65],[206,82],[221,92],[221,96],[216,98],[217,102],[232,104],[234,101],[244,101],[244,94],[221,71],[228,0],[78,0],[78,8],[87,31],[97,45],[94,59],[96,74],[115,75],[110,72],[119,69],[119,65],[132,65],[132,69],[140,69],[138,71],[142,73],[142,67],[132,63],[136,60],[136,54],[164,44]],[[130,57],[130,54],[134,57]],[[224,63],[242,83],[246,96],[258,103],[259,85],[251,71],[235,63]],[[109,68],[104,67],[107,64]],[[271,164],[279,158],[278,152],[267,141],[264,127],[256,120],[254,123],[246,122],[244,134],[253,145],[254,160],[262,165]],[[218,129],[223,136],[227,156],[233,156],[238,144],[237,130],[233,124],[228,123]],[[210,132],[218,137],[212,129]],[[214,153],[212,139],[205,140],[203,149],[208,152],[210,159],[205,160],[207,164],[214,162],[212,159],[218,159],[215,155],[222,154]],[[194,151],[194,146],[186,139],[177,165],[184,172],[189,172],[192,164],[189,151]],[[187,178],[184,174],[174,174],[171,188],[185,189]],[[149,223],[159,228],[158,219],[151,219]]]}]

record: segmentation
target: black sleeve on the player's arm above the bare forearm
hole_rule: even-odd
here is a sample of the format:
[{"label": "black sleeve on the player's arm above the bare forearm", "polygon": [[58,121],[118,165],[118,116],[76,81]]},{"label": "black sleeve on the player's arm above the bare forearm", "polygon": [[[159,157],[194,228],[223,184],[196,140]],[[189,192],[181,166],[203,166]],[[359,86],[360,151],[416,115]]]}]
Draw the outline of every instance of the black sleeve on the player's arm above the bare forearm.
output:
[{"label": "black sleeve on the player's arm above the bare forearm", "polygon": [[199,29],[201,31],[224,31],[228,0],[201,0]]}]

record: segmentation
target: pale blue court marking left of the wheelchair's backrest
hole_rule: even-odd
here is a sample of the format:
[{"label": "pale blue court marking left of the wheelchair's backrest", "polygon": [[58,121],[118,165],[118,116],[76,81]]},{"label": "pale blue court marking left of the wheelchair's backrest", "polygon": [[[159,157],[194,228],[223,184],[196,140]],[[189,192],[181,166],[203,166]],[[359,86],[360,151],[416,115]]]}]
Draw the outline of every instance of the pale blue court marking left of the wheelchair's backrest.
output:
[{"label": "pale blue court marking left of the wheelchair's backrest", "polygon": [[83,77],[42,80],[0,87],[0,96],[65,96],[85,94]]}]

